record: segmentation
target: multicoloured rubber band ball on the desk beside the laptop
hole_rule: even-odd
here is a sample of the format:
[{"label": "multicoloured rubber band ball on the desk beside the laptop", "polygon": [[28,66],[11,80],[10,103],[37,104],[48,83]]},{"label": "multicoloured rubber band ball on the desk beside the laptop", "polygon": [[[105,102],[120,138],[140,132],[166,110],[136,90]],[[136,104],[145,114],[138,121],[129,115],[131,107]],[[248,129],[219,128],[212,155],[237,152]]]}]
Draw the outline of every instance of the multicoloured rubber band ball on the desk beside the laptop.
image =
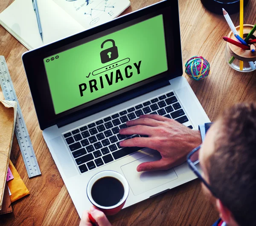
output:
[{"label": "multicoloured rubber band ball on the desk beside the laptop", "polygon": [[204,57],[194,56],[186,62],[185,72],[192,80],[202,80],[210,74],[210,64]]}]

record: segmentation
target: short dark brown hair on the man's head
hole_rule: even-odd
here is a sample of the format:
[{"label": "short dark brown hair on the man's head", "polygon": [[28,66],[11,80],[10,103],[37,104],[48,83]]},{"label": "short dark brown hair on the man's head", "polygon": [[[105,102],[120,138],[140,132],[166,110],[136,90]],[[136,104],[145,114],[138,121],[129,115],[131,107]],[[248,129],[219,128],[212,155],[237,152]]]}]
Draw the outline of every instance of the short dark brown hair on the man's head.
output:
[{"label": "short dark brown hair on the man's head", "polygon": [[256,225],[256,103],[226,110],[209,157],[209,182],[240,226]]}]

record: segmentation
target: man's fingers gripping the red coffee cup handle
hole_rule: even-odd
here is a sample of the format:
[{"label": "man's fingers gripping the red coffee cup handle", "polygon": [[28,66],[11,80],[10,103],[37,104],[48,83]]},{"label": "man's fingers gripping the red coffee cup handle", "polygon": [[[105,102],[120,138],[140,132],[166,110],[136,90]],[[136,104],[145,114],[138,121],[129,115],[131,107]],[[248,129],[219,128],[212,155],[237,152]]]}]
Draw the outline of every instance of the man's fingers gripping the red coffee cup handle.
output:
[{"label": "man's fingers gripping the red coffee cup handle", "polygon": [[94,220],[96,220],[99,226],[111,226],[111,223],[109,223],[105,214],[97,209],[95,206],[92,206],[90,208],[90,211],[85,210],[83,212],[79,226],[93,226],[89,219],[89,213],[92,215]]}]

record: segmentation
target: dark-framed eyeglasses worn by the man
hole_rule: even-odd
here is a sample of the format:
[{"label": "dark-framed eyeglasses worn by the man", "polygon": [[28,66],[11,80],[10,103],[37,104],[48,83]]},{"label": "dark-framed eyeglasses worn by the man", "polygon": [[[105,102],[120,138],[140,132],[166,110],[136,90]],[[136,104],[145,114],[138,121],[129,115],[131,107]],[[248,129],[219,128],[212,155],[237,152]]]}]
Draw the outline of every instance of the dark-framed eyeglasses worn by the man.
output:
[{"label": "dark-framed eyeglasses worn by the man", "polygon": [[201,149],[201,145],[197,148],[193,149],[192,152],[190,152],[187,156],[187,163],[189,164],[189,168],[195,173],[195,175],[201,180],[204,185],[209,189],[210,192],[212,192],[212,195],[215,197],[216,194],[213,192],[212,187],[204,180],[204,178],[201,175],[201,168],[199,164],[199,150]]}]

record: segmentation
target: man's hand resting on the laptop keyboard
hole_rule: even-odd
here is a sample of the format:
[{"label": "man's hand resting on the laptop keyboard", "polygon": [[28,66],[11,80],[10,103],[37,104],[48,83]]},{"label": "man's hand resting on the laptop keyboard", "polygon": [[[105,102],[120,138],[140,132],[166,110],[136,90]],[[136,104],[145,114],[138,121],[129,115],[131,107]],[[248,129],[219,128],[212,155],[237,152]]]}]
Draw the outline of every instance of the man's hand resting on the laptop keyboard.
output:
[{"label": "man's hand resting on the laptop keyboard", "polygon": [[157,114],[140,115],[139,119],[126,122],[128,128],[120,129],[120,134],[140,134],[120,142],[123,147],[148,147],[160,152],[162,158],[154,162],[141,163],[137,171],[170,169],[186,160],[186,155],[202,143],[201,134],[187,128],[173,119]]}]

